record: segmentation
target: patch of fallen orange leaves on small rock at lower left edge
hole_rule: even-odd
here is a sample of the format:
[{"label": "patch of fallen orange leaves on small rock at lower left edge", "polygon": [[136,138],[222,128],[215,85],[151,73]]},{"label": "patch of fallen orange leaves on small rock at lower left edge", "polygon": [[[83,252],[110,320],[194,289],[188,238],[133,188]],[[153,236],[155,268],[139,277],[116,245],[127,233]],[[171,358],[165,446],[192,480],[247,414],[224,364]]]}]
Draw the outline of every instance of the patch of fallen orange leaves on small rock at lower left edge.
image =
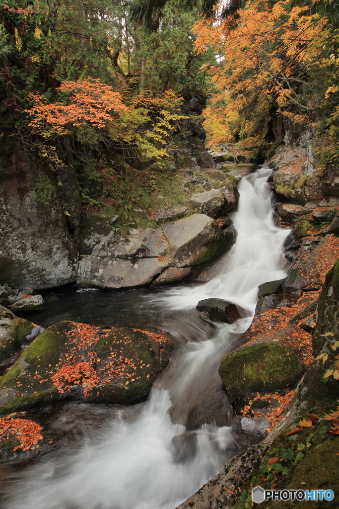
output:
[{"label": "patch of fallen orange leaves on small rock at lower left edge", "polygon": [[29,450],[30,447],[38,443],[38,440],[43,439],[43,436],[40,434],[42,427],[32,420],[13,419],[13,415],[17,414],[10,414],[0,419],[0,433],[6,436],[6,440],[11,435],[19,439],[20,444],[14,447],[13,450]]}]

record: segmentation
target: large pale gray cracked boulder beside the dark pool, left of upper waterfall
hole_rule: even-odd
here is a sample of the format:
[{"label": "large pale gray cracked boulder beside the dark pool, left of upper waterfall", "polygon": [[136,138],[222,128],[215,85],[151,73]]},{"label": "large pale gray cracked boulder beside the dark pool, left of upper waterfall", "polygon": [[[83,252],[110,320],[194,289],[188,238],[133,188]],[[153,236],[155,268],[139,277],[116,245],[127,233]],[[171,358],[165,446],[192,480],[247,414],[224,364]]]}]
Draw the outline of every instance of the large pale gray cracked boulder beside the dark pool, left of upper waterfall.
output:
[{"label": "large pale gray cracked boulder beside the dark pool, left of upper waterfall", "polygon": [[[180,280],[189,275],[182,269],[200,265],[217,254],[223,234],[217,222],[194,214],[162,228],[147,228],[118,244],[97,244],[79,261],[78,285],[99,288],[129,288]],[[174,274],[175,272],[175,274]],[[181,274],[181,277],[180,277]]]}]

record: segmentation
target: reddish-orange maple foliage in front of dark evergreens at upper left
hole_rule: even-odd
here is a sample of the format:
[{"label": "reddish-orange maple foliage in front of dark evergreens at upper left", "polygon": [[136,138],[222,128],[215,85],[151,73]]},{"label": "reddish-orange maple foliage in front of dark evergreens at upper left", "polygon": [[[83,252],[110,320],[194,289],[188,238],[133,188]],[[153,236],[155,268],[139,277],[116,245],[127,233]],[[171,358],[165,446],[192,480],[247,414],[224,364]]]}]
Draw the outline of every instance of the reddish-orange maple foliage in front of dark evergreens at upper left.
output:
[{"label": "reddish-orange maple foliage in front of dark evergreens at upper left", "polygon": [[26,112],[32,120],[31,127],[40,127],[43,122],[57,131],[67,125],[79,126],[89,123],[99,129],[129,110],[122,102],[122,96],[99,79],[64,81],[59,92],[65,96],[64,102],[47,102],[38,94],[31,95],[34,106]]}]

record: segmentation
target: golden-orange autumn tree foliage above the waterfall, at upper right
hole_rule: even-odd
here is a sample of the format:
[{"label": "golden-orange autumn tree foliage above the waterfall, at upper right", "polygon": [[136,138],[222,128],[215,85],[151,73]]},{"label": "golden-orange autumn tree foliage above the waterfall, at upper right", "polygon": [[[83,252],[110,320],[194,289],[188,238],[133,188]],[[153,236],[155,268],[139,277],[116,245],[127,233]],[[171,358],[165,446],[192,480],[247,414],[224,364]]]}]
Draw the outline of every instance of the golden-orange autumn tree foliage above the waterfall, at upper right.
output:
[{"label": "golden-orange autumn tree foliage above the waterfall, at upper right", "polygon": [[312,109],[300,96],[300,87],[307,80],[307,70],[319,59],[319,53],[310,52],[310,45],[325,20],[312,10],[315,5],[312,0],[307,6],[276,2],[270,7],[251,0],[239,11],[235,26],[228,18],[196,23],[197,51],[205,52],[212,45],[220,55],[218,65],[205,65],[218,88],[211,109],[205,112],[210,117],[205,128],[214,144],[221,125],[229,135],[234,124],[240,137],[251,135],[260,111],[267,116],[267,111],[287,104],[303,113]]}]

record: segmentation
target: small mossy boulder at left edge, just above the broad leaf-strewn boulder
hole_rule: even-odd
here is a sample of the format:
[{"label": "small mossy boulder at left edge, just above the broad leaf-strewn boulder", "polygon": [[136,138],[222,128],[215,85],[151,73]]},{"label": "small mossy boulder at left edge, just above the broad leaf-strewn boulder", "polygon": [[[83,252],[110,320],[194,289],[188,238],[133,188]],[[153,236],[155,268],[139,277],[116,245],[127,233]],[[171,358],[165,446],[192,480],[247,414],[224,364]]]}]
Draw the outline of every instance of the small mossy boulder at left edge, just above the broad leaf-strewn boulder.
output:
[{"label": "small mossy boulder at left edge, just above the broad leaf-strewn boulder", "polygon": [[7,307],[0,306],[0,363],[32,341],[41,330],[35,324],[16,317]]}]

